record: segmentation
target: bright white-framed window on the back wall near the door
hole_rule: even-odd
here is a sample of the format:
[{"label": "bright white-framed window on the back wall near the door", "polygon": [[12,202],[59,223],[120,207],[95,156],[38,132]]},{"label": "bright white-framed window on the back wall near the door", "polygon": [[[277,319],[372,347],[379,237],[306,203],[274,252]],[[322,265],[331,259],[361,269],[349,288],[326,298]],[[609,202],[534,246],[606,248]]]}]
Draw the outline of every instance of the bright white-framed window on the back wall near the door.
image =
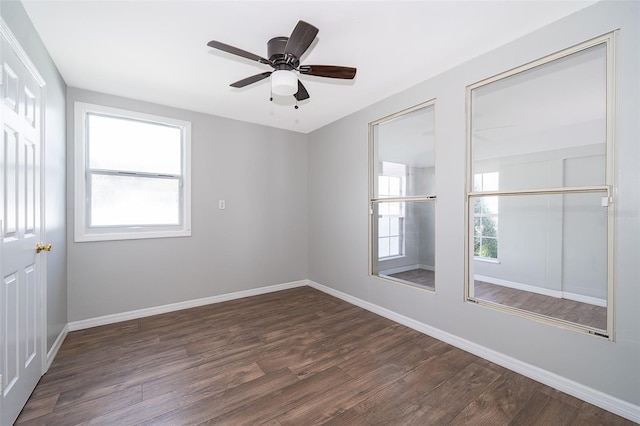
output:
[{"label": "bright white-framed window on the back wall near the door", "polygon": [[75,241],[191,235],[189,122],[75,103]]}]

